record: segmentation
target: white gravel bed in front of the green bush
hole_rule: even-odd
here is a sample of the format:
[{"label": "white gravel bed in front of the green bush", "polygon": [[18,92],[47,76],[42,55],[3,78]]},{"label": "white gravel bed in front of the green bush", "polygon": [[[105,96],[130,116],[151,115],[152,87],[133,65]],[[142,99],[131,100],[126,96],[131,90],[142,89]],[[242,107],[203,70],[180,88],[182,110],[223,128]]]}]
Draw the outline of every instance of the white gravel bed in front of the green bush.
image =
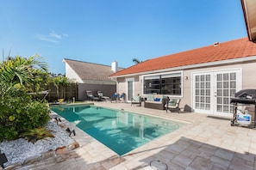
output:
[{"label": "white gravel bed in front of the green bush", "polygon": [[47,130],[52,131],[54,137],[47,137],[47,139],[37,141],[36,143],[28,143],[24,138],[0,143],[0,150],[6,155],[8,160],[4,167],[15,163],[23,163],[28,158],[41,156],[41,153],[47,152],[50,149],[55,150],[75,142],[72,137],[69,137],[69,133],[53,121],[49,121],[46,127]]}]

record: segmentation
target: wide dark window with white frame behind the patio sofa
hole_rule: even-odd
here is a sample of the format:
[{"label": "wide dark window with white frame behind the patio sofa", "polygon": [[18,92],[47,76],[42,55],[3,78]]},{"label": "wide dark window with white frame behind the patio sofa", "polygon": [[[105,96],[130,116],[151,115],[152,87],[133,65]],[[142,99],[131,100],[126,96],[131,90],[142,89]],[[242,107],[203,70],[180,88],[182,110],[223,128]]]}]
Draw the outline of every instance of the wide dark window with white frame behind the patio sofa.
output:
[{"label": "wide dark window with white frame behind the patio sofa", "polygon": [[144,94],[181,95],[181,73],[144,76]]}]

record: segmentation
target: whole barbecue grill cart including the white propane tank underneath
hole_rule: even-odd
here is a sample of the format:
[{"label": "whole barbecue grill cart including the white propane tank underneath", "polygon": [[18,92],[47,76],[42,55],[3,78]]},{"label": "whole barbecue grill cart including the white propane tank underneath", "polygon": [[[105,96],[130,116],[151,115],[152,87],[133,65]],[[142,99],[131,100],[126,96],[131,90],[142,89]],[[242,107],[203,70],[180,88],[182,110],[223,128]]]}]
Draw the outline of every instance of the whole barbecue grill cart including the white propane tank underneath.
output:
[{"label": "whole barbecue grill cart including the white propane tank underneath", "polygon": [[[230,103],[234,104],[234,115],[231,120],[231,125],[250,125],[253,124],[255,128],[256,117],[256,89],[243,89],[234,94]],[[239,106],[250,106],[253,110],[240,110]],[[252,120],[253,119],[253,120]]]}]

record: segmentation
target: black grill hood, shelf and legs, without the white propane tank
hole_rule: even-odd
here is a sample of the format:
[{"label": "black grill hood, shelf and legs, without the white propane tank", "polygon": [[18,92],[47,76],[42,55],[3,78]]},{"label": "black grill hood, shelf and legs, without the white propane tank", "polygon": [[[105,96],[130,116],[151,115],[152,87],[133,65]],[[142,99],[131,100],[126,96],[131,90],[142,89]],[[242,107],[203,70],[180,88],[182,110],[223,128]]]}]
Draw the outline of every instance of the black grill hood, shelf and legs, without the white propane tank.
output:
[{"label": "black grill hood, shelf and legs, without the white propane tank", "polygon": [[234,94],[234,98],[231,98],[230,103],[234,104],[234,116],[231,120],[231,125],[237,124],[237,107],[242,105],[254,106],[254,128],[256,117],[256,89],[243,89]]}]

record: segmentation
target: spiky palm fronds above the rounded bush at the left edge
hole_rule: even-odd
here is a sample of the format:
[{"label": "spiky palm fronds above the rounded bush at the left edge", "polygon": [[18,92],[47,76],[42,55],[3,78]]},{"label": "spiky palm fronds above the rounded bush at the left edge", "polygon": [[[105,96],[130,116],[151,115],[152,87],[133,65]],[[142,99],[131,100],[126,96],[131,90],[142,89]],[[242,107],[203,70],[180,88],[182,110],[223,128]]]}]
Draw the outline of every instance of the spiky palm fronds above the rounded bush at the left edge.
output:
[{"label": "spiky palm fronds above the rounded bush at the left edge", "polygon": [[31,87],[39,81],[42,74],[47,73],[47,63],[38,55],[30,58],[8,57],[0,63],[0,96],[12,88]]}]

